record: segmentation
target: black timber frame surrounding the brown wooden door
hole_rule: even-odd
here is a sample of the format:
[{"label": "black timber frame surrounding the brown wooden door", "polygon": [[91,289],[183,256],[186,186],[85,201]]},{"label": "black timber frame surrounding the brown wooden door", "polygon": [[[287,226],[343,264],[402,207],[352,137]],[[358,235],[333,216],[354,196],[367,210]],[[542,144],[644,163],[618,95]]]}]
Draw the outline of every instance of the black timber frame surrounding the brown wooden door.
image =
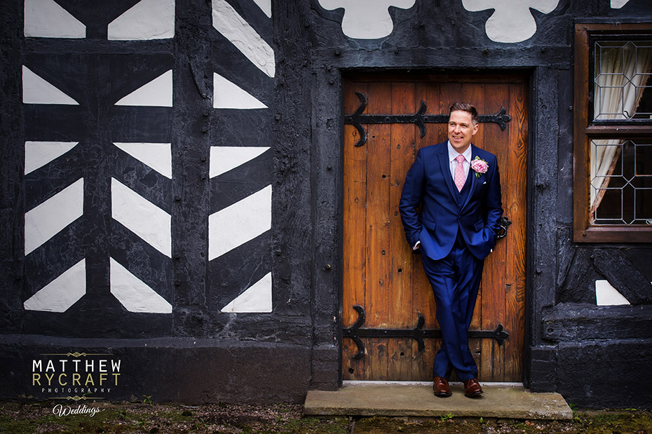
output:
[{"label": "black timber frame surrounding the brown wooden door", "polygon": [[[313,209],[313,234],[315,238],[320,239],[320,236],[330,238],[332,245],[317,245],[313,243],[312,248],[312,262],[313,262],[313,276],[311,278],[311,294],[313,301],[311,303],[313,310],[313,351],[312,351],[312,367],[313,384],[321,383],[315,381],[315,378],[322,378],[324,374],[322,369],[326,366],[325,360],[330,360],[327,365],[330,368],[336,368],[334,365],[337,362],[337,386],[342,384],[342,300],[344,291],[344,279],[342,272],[342,264],[344,257],[344,243],[343,243],[343,227],[344,227],[344,77],[355,74],[409,74],[410,72],[417,74],[510,74],[521,75],[527,83],[527,97],[528,97],[528,143],[527,143],[527,169],[526,169],[526,239],[525,239],[525,330],[524,330],[524,348],[523,348],[523,376],[522,379],[525,386],[529,386],[531,377],[531,347],[534,345],[533,332],[540,329],[541,322],[538,319],[541,315],[533,316],[534,306],[541,306],[541,297],[536,299],[533,293],[534,287],[534,271],[541,273],[541,268],[535,268],[534,253],[535,253],[535,231],[536,221],[541,220],[534,215],[534,208],[536,202],[534,199],[534,150],[536,149],[535,131],[541,128],[534,123],[534,119],[538,118],[536,102],[541,99],[551,100],[550,97],[543,97],[543,94],[536,94],[538,90],[534,83],[543,79],[545,75],[545,68],[543,67],[517,67],[517,68],[476,68],[470,71],[459,68],[421,68],[421,69],[408,69],[406,68],[362,68],[362,67],[315,67],[313,70],[313,104],[311,111],[312,118],[312,147],[311,147],[311,187],[315,194],[311,208]],[[324,187],[325,186],[325,187]],[[541,189],[541,186],[537,184]],[[327,219],[334,218],[334,225],[317,224]],[[555,246],[555,240],[548,238],[547,243],[550,248]],[[329,249],[330,247],[330,249]],[[541,247],[539,248],[541,251]],[[551,250],[552,251],[552,250]],[[324,253],[327,252],[325,257],[331,257],[334,266],[324,264],[322,258]],[[331,285],[334,285],[335,288]],[[330,286],[330,288],[329,288]],[[337,289],[337,294],[332,292]],[[325,290],[322,291],[322,290]],[[554,292],[554,288],[553,288]],[[334,298],[328,297],[329,295],[336,296]],[[330,300],[329,300],[330,299]],[[330,302],[329,302],[330,301]],[[320,315],[326,306],[330,306],[332,310],[328,310],[326,315]],[[319,317],[319,318],[318,318]],[[325,319],[328,318],[328,319]],[[330,337],[329,337],[330,336]],[[348,339],[348,338],[346,338]],[[337,354],[330,352],[329,356],[325,356],[322,350],[326,346],[337,350]]]}]

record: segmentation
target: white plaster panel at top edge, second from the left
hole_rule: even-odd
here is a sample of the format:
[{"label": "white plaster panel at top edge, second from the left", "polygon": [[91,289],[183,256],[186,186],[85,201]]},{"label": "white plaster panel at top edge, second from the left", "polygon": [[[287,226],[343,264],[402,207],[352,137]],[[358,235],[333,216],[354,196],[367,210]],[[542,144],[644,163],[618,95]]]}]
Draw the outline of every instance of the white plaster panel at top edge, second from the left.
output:
[{"label": "white plaster panel at top edge, second from the left", "polygon": [[175,0],[142,0],[109,23],[109,40],[146,41],[175,36]]}]

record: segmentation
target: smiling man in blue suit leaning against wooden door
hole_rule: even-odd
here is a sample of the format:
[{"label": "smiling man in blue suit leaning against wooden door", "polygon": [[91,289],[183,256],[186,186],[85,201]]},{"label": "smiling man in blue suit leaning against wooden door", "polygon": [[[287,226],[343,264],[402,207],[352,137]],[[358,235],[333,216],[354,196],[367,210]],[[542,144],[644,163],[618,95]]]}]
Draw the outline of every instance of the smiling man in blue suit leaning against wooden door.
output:
[{"label": "smiling man in blue suit leaning against wooden door", "polygon": [[433,389],[442,397],[451,395],[453,369],[466,396],[482,395],[467,332],[503,208],[496,156],[471,144],[478,128],[473,105],[453,104],[447,142],[419,149],[399,205],[407,241],[421,253],[435,292],[442,346],[435,355]]}]

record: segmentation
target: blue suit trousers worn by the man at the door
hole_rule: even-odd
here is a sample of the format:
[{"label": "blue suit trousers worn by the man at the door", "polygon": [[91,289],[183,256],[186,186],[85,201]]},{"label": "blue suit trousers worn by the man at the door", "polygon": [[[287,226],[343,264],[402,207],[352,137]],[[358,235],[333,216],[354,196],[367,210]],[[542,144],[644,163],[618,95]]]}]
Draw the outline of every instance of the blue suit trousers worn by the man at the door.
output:
[{"label": "blue suit trousers worn by the man at the door", "polygon": [[453,369],[461,381],[477,378],[477,365],[468,347],[468,327],[482,278],[484,259],[477,259],[457,237],[451,252],[434,260],[421,250],[423,270],[435,293],[442,346],[435,355],[433,377],[448,379]]}]

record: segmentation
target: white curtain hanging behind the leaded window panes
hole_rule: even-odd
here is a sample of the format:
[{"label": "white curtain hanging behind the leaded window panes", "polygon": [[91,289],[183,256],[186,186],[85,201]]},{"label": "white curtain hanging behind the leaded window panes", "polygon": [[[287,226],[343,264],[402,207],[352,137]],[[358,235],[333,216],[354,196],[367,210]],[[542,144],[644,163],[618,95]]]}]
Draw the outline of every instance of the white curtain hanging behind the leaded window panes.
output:
[{"label": "white curtain hanging behind the leaded window panes", "polygon": [[[652,72],[652,47],[650,43],[638,48],[627,43],[624,47],[602,46],[599,49],[601,53],[596,56],[595,62],[595,119],[629,119],[639,105],[645,83]],[[595,142],[601,146],[596,146]],[[622,143],[623,140],[619,139],[591,141],[592,221],[616,168],[622,149],[619,145]]]}]

